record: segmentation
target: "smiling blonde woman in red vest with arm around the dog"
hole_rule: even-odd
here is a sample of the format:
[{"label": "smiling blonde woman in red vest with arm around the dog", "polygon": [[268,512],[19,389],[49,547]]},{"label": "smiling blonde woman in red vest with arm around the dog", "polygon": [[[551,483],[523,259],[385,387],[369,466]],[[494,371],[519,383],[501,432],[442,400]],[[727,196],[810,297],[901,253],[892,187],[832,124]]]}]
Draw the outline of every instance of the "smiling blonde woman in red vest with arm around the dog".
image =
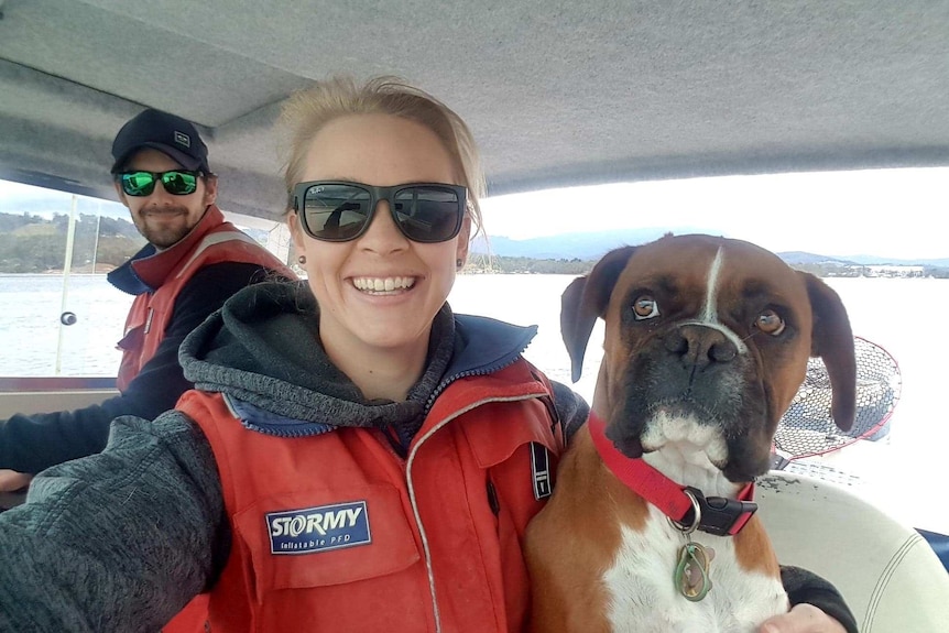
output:
[{"label": "smiling blonde woman in red vest with arm around the dog", "polygon": [[[0,629],[521,631],[521,535],[586,404],[535,328],[445,303],[480,219],[473,140],[396,81],[296,96],[286,185],[306,284],[236,295],[182,347],[199,391],[0,517]],[[537,465],[541,465],[538,467]],[[841,620],[826,583],[789,587]],[[842,631],[807,604],[774,631]]]}]

